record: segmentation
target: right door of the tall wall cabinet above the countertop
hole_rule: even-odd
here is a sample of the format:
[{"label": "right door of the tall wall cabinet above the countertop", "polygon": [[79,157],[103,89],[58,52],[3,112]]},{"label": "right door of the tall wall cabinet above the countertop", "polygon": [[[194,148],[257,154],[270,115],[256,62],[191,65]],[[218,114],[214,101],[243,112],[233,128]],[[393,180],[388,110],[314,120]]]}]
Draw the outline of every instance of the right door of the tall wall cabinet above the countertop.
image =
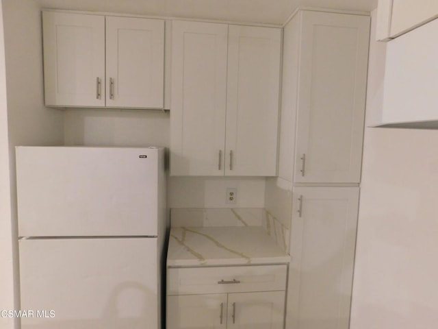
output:
[{"label": "right door of the tall wall cabinet above the countertop", "polygon": [[276,175],[281,29],[229,26],[226,175]]}]

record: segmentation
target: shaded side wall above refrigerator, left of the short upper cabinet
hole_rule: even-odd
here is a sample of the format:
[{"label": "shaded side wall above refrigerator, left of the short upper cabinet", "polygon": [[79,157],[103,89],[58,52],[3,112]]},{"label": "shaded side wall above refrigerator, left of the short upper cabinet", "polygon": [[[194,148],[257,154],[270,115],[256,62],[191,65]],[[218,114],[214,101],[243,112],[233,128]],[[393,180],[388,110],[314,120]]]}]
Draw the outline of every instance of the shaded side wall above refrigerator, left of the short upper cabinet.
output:
[{"label": "shaded side wall above refrigerator, left of the short upper cabinet", "polygon": [[33,0],[3,0],[10,141],[64,143],[63,113],[44,107],[40,7]]}]

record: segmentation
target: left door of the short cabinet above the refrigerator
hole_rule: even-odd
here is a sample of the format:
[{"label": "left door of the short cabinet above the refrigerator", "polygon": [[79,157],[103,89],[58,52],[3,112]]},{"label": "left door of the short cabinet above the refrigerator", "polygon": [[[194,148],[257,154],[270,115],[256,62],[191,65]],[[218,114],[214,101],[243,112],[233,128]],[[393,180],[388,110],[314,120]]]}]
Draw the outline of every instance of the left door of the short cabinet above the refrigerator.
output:
[{"label": "left door of the short cabinet above the refrigerator", "polygon": [[105,17],[42,12],[44,103],[105,106]]}]

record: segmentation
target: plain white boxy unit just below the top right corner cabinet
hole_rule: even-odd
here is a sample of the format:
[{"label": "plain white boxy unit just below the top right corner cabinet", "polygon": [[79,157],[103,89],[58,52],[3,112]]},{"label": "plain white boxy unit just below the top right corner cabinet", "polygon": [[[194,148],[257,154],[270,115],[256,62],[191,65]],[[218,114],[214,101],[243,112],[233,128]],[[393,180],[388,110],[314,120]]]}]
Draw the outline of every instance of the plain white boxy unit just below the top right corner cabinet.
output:
[{"label": "plain white boxy unit just below the top right corner cabinet", "polygon": [[438,127],[438,19],[387,43],[382,124]]}]

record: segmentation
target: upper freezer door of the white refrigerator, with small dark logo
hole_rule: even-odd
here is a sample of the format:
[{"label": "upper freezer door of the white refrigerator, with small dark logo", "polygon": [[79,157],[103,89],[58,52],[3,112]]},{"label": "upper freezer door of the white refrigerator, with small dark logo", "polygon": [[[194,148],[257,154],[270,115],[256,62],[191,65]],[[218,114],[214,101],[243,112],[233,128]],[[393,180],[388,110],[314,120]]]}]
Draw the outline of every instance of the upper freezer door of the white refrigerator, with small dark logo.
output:
[{"label": "upper freezer door of the white refrigerator, with small dark logo", "polygon": [[17,147],[19,236],[157,236],[163,149]]}]

